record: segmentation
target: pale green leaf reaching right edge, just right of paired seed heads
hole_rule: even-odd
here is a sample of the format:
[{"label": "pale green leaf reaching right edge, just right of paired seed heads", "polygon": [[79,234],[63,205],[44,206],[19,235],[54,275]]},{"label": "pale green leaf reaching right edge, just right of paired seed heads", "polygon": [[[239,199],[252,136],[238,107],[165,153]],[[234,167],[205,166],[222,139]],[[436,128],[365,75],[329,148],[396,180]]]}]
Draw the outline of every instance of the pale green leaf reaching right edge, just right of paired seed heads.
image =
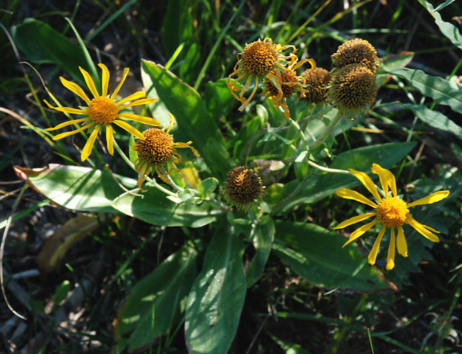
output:
[{"label": "pale green leaf reaching right edge, just right of paired seed heads", "polygon": [[453,111],[462,113],[462,91],[452,88],[443,77],[427,75],[421,70],[402,68],[391,72],[403,77],[409,86],[416,88],[422,95],[432,97],[438,104],[450,106]]}]

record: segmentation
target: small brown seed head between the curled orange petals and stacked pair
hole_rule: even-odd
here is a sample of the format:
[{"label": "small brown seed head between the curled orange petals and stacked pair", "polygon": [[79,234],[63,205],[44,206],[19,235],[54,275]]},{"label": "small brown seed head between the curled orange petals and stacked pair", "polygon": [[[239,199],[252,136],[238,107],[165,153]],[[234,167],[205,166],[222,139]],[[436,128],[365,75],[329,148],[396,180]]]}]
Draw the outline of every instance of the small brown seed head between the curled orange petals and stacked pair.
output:
[{"label": "small brown seed head between the curled orange petals and stacked pair", "polygon": [[324,68],[306,69],[301,76],[305,79],[305,86],[300,91],[300,98],[313,103],[324,101],[327,85],[331,82],[329,71]]}]

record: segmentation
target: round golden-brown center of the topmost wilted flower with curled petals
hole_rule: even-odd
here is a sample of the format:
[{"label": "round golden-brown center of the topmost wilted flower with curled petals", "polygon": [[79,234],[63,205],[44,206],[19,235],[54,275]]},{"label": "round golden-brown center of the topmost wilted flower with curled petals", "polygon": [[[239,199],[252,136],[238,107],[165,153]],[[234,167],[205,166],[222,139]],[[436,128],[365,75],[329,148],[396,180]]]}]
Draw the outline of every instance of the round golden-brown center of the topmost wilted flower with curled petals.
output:
[{"label": "round golden-brown center of the topmost wilted flower with curled petals", "polygon": [[242,67],[251,75],[266,75],[275,67],[277,50],[268,41],[253,41],[242,50]]}]

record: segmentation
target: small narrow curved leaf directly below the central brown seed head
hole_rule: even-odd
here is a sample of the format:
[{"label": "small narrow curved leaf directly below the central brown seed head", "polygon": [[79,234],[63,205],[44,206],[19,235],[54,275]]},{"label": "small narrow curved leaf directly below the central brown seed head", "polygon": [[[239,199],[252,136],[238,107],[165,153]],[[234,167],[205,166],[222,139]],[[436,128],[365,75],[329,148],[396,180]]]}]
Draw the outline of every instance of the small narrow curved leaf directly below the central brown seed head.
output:
[{"label": "small narrow curved leaf directly below the central brown seed head", "polygon": [[250,288],[260,279],[265,269],[266,261],[271,252],[272,241],[275,239],[275,225],[272,218],[266,215],[259,219],[253,231],[253,247],[255,255],[247,268],[247,287]]}]

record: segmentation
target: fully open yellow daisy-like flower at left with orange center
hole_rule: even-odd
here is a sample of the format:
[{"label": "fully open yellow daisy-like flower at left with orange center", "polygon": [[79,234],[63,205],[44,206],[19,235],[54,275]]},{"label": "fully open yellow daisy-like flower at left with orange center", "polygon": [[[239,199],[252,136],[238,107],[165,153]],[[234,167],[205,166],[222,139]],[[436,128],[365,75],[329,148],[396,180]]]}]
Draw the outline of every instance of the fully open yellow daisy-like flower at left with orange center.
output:
[{"label": "fully open yellow daisy-like flower at left with orange center", "polygon": [[[101,130],[101,127],[106,128],[106,140],[107,140],[107,149],[111,155],[114,154],[114,145],[113,145],[113,127],[111,124],[118,125],[122,129],[125,129],[133,136],[136,136],[140,139],[144,139],[144,136],[138,129],[131,127],[130,124],[124,122],[124,120],[132,120],[135,122],[140,122],[142,124],[148,124],[152,126],[158,126],[160,122],[155,120],[154,118],[145,117],[143,115],[133,114],[133,113],[120,113],[122,109],[126,109],[131,106],[140,106],[142,104],[149,104],[152,102],[156,102],[157,99],[154,98],[144,98],[146,97],[146,93],[143,91],[138,91],[133,93],[122,100],[116,102],[115,95],[118,94],[122,84],[124,83],[127,75],[129,74],[129,68],[124,68],[124,73],[122,75],[122,80],[120,80],[118,86],[113,91],[112,95],[107,94],[107,90],[109,87],[109,69],[104,64],[98,64],[102,69],[102,94],[98,93],[96,89],[95,82],[91,78],[90,74],[84,71],[80,66],[80,72],[82,73],[84,80],[86,82],[86,86],[88,86],[91,94],[93,95],[93,99],[90,99],[84,90],[74,82],[70,82],[64,77],[59,77],[64,87],[68,90],[75,93],[75,95],[79,96],[86,102],[88,106],[80,107],[79,109],[71,108],[71,107],[53,107],[51,104],[46,102],[46,105],[50,109],[55,109],[59,112],[71,113],[71,114],[78,114],[78,115],[85,115],[84,118],[69,120],[68,122],[64,122],[58,124],[56,127],[45,129],[46,131],[53,131],[57,129],[61,129],[67,127],[71,124],[79,124],[82,123],[83,125],[78,129],[73,131],[68,131],[66,133],[60,133],[57,136],[53,137],[53,140],[59,140],[62,138],[66,138],[66,136],[71,136],[75,133],[79,133],[85,129],[93,128],[93,131],[90,134],[89,139],[86,141],[84,148],[82,149],[82,154],[80,158],[82,161],[86,160],[90,154],[91,150],[93,149],[93,144],[95,143],[96,136]],[[131,103],[128,103],[131,102]],[[124,119],[124,120],[120,120]]]}]

